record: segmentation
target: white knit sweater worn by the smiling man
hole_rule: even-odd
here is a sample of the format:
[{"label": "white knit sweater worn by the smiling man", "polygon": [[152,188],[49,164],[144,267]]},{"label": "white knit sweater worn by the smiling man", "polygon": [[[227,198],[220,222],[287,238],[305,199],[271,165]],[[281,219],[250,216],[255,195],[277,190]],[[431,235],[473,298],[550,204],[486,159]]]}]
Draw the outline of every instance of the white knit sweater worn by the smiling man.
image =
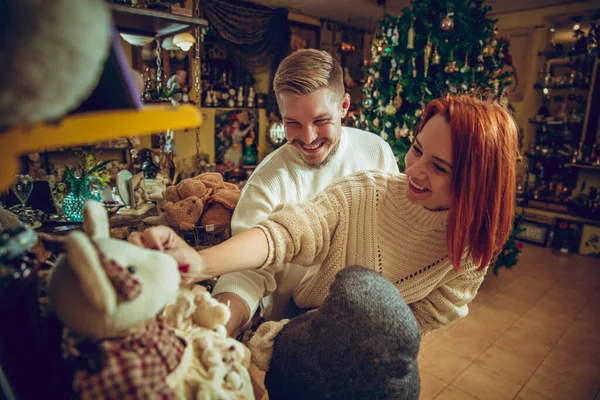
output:
[{"label": "white knit sweater worn by the smiling man", "polygon": [[[284,145],[271,153],[252,174],[231,221],[234,235],[264,221],[280,204],[301,203],[317,195],[336,179],[364,170],[398,172],[392,149],[379,136],[353,128],[342,128],[337,152],[320,168],[307,166],[298,152]],[[277,275],[270,270],[243,271],[219,278],[213,294],[229,292],[240,296],[251,315],[266,295],[265,317],[287,316],[286,306],[307,269],[288,264]]]}]

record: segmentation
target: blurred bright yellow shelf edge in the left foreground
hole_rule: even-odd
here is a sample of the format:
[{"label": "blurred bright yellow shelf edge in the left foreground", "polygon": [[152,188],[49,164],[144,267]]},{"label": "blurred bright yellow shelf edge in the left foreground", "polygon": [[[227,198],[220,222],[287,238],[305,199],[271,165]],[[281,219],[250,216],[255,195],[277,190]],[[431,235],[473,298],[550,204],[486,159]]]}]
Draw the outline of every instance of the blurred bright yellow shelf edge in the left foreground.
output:
[{"label": "blurred bright yellow shelf edge in the left foreground", "polygon": [[57,123],[15,126],[0,135],[0,191],[12,185],[21,154],[149,135],[167,129],[195,128],[201,124],[198,108],[186,104],[73,114]]}]

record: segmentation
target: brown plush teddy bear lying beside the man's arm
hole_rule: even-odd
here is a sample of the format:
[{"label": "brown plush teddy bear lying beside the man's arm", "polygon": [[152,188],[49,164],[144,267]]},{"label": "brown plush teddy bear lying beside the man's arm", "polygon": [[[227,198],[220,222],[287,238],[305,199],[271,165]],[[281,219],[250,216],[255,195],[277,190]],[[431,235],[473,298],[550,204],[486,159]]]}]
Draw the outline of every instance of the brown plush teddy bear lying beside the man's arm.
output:
[{"label": "brown plush teddy bear lying beside the man's arm", "polygon": [[159,217],[148,217],[151,225],[168,225],[191,230],[197,225],[216,225],[214,233],[225,230],[240,198],[240,189],[223,181],[217,172],[206,172],[168,187],[163,197],[168,203]]}]

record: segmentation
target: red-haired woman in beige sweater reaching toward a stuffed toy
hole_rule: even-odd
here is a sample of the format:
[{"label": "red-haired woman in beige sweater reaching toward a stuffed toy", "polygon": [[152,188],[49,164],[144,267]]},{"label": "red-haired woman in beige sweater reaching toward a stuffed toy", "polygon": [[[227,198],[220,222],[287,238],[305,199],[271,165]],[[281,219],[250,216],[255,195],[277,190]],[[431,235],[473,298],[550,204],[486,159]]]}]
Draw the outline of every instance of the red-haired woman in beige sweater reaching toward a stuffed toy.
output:
[{"label": "red-haired woman in beige sweater reaching toward a stuffed toy", "polygon": [[404,174],[360,172],[312,201],[280,206],[256,228],[196,253],[168,228],[132,241],[165,248],[187,280],[286,263],[319,264],[294,294],[318,307],[347,265],[396,285],[425,334],[468,313],[512,228],[517,128],[501,105],[468,96],[432,101]]}]

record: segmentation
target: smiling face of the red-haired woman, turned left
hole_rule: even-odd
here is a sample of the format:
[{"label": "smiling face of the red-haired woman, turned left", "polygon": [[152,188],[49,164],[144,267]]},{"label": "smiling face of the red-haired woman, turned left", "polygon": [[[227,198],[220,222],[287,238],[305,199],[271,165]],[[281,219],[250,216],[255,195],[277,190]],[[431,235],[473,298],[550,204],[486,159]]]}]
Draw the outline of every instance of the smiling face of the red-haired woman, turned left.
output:
[{"label": "smiling face of the red-haired woman, turned left", "polygon": [[441,115],[432,117],[405,157],[406,197],[429,210],[445,210],[452,199],[452,135]]}]

